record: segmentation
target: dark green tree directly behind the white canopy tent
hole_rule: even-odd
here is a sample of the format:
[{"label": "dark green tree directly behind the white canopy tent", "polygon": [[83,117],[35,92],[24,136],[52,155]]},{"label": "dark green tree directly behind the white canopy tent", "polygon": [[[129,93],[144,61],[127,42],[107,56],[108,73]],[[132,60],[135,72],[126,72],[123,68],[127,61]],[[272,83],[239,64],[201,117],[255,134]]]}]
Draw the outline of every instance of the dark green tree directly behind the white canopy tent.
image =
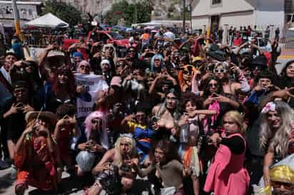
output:
[{"label": "dark green tree directly behind the white canopy tent", "polygon": [[47,14],[49,12],[66,21],[71,26],[74,26],[76,23],[81,21],[81,11],[78,11],[78,9],[76,9],[74,6],[61,1],[46,1],[45,9],[42,11],[41,15]]}]

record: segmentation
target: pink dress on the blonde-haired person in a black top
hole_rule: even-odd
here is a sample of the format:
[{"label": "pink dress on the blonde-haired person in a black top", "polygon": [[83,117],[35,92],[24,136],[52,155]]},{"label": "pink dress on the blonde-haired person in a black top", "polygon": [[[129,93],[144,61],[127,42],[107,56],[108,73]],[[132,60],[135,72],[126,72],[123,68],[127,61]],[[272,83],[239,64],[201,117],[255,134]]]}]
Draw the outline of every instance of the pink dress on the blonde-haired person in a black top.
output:
[{"label": "pink dress on the blonde-haired person in a black top", "polygon": [[[245,142],[239,133],[229,135],[227,138],[235,135],[240,136]],[[204,191],[214,191],[214,195],[245,195],[250,177],[243,167],[244,159],[245,152],[232,154],[227,146],[220,144],[213,164],[209,168]]]}]

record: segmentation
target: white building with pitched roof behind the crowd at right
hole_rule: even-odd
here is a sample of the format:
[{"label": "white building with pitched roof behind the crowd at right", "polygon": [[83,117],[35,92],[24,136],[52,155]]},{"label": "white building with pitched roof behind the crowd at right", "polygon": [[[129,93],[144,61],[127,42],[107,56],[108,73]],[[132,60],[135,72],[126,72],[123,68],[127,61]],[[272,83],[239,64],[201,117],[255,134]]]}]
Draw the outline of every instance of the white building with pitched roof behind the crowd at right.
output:
[{"label": "white building with pitched roof behind the crowd at right", "polygon": [[194,0],[192,3],[193,29],[211,26],[268,25],[283,28],[285,0]]}]

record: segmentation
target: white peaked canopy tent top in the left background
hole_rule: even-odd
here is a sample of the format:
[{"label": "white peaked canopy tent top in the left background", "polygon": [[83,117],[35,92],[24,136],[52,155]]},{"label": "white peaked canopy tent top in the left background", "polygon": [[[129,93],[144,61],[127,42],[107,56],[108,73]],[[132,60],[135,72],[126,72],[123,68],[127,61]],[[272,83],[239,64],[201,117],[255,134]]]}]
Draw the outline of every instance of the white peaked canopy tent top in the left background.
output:
[{"label": "white peaked canopy tent top in the left background", "polygon": [[26,25],[46,28],[55,28],[59,25],[63,25],[63,27],[69,27],[69,23],[66,23],[51,13],[45,14],[38,19],[34,19],[34,21],[29,21],[26,23]]}]

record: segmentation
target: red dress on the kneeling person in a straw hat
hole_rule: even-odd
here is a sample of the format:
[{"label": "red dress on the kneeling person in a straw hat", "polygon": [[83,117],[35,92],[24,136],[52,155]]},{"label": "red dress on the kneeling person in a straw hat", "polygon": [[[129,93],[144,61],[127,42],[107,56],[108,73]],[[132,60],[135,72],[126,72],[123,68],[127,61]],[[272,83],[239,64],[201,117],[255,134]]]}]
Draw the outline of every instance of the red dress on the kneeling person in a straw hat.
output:
[{"label": "red dress on the kneeling person in a straw hat", "polygon": [[18,168],[16,186],[24,184],[26,188],[56,189],[56,154],[49,152],[45,137],[25,140],[21,151],[14,156],[14,163]]}]

